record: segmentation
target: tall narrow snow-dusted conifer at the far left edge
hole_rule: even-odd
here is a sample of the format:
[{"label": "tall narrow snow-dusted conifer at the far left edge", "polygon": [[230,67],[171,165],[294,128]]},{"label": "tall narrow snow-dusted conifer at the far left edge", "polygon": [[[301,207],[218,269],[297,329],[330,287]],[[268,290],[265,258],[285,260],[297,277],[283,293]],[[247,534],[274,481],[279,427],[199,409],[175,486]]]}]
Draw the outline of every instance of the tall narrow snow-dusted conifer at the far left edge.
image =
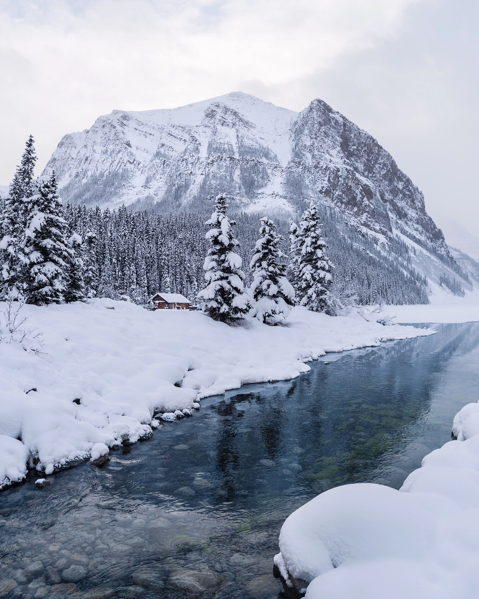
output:
[{"label": "tall narrow snow-dusted conifer at the far left edge", "polygon": [[37,162],[34,138],[29,136],[25,152],[23,152],[13,181],[4,201],[0,230],[0,259],[2,272],[0,276],[0,299],[9,292],[14,295],[25,292],[24,284],[28,256],[25,255],[25,229],[28,218],[28,198],[34,195],[34,168]]}]

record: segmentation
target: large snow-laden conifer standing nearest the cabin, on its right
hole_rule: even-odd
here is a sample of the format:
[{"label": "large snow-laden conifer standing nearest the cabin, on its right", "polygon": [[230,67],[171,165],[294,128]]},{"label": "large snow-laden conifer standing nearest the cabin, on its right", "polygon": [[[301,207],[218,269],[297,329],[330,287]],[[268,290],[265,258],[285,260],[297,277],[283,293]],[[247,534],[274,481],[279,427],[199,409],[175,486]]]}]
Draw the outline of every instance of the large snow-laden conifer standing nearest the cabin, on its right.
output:
[{"label": "large snow-laden conifer standing nearest the cabin, on its right", "polygon": [[242,261],[235,252],[239,242],[232,226],[236,223],[229,220],[227,211],[228,199],[220,194],[211,219],[205,223],[213,227],[206,234],[211,247],[203,265],[208,285],[199,292],[198,298],[204,301],[208,316],[221,322],[234,322],[250,311],[251,302],[244,292]]}]

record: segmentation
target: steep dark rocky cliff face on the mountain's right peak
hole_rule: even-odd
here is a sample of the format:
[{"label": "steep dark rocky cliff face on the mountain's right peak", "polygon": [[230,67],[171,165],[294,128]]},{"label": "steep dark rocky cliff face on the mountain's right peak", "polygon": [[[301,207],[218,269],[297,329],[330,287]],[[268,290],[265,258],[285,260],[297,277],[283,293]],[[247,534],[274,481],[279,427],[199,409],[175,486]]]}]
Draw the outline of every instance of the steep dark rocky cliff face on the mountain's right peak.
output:
[{"label": "steep dark rocky cliff face on the mountain's right peak", "polygon": [[306,195],[328,198],[367,228],[397,229],[447,255],[422,192],[371,135],[320,99],[293,123],[286,171]]}]

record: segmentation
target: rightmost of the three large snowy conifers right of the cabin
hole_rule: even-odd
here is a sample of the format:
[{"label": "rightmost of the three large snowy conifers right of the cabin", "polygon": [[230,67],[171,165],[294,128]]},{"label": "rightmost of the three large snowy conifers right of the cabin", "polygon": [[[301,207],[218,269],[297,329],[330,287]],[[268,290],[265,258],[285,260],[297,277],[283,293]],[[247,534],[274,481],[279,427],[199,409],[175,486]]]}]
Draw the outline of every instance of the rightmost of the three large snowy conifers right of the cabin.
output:
[{"label": "rightmost of the three large snowy conifers right of the cabin", "polygon": [[314,202],[302,214],[299,225],[290,223],[291,270],[296,298],[299,305],[314,312],[328,309],[332,282],[332,264],[326,255],[327,246],[321,227]]}]

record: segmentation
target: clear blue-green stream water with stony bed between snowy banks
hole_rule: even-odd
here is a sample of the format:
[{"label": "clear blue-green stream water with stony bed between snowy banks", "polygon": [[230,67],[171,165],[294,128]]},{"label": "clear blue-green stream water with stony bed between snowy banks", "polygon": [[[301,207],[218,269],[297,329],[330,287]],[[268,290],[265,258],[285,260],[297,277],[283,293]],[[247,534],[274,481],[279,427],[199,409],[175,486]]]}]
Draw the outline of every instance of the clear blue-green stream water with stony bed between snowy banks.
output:
[{"label": "clear blue-green stream water with stony bed between snowy banks", "polygon": [[277,597],[294,509],[343,483],[399,488],[479,399],[479,324],[437,328],[204,400],[104,468],[3,492],[0,597]]}]

